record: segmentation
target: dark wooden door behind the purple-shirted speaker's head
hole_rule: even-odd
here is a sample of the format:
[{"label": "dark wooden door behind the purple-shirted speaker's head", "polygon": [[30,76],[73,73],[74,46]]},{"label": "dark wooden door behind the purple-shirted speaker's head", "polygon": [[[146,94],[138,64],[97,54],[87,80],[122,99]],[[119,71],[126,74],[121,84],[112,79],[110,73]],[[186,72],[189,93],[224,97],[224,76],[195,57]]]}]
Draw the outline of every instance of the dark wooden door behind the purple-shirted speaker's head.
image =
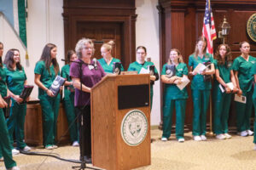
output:
[{"label": "dark wooden door behind the purple-shirted speaker's head", "polygon": [[77,41],[80,38],[90,38],[95,45],[93,57],[101,59],[102,44],[113,40],[115,45],[112,49],[112,56],[122,60],[122,24],[118,22],[79,22],[77,25]]}]

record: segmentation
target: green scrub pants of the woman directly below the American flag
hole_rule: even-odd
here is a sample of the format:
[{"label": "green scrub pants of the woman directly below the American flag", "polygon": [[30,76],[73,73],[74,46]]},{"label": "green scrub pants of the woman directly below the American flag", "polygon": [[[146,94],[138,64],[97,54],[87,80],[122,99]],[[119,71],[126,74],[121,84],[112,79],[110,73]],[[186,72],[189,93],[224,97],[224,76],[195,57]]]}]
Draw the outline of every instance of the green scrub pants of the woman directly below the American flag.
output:
[{"label": "green scrub pants of the woman directly below the American flag", "polygon": [[209,106],[211,90],[192,90],[194,105],[193,130],[194,136],[205,135],[207,133],[207,109]]}]

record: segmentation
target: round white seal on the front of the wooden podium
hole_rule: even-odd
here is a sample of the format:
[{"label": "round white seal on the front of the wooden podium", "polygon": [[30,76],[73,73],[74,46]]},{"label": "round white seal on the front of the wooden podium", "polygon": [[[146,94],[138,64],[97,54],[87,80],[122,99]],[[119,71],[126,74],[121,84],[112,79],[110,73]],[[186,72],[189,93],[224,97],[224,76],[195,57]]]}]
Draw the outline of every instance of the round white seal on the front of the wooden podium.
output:
[{"label": "round white seal on the front of the wooden podium", "polygon": [[126,113],[121,123],[121,134],[130,146],[141,144],[148,133],[148,119],[143,111],[132,110]]}]

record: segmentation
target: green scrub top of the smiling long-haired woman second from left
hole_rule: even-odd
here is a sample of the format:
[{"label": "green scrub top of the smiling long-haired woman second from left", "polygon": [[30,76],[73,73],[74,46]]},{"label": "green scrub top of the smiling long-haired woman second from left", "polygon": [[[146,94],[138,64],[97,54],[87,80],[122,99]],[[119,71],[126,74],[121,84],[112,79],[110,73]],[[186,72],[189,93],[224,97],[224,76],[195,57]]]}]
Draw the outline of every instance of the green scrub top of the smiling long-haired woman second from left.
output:
[{"label": "green scrub top of the smiling long-haired woman second from left", "polygon": [[21,71],[17,68],[15,71],[11,71],[6,67],[5,69],[7,87],[13,94],[20,95],[24,88],[24,82],[26,81],[24,68],[22,67]]}]

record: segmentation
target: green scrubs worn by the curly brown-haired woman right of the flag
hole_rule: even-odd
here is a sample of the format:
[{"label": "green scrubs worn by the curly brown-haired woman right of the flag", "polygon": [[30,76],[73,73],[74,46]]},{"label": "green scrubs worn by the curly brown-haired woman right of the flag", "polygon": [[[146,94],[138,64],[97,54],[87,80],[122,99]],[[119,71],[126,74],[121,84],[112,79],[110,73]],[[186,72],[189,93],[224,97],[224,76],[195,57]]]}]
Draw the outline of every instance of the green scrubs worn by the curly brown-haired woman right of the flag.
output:
[{"label": "green scrubs worn by the curly brown-haired woman right of the flag", "polygon": [[[214,60],[215,70],[218,70],[219,77],[225,83],[230,82],[231,63],[225,62],[224,65],[219,65],[217,60]],[[219,88],[219,82],[215,79],[213,83],[212,104],[214,108],[213,115],[213,132],[218,134],[228,133],[228,119],[230,112],[231,93],[226,94]]]}]

